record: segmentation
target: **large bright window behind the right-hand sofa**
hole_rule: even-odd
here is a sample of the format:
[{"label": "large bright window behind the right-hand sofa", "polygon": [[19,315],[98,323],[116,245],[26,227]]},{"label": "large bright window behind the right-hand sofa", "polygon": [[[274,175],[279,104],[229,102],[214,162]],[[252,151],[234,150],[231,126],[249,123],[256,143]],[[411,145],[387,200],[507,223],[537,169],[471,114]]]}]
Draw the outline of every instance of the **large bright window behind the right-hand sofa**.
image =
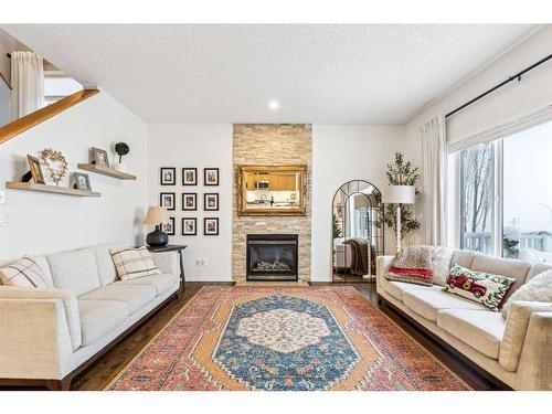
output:
[{"label": "large bright window behind the right-hand sofa", "polygon": [[457,157],[460,248],[552,262],[552,121]]}]

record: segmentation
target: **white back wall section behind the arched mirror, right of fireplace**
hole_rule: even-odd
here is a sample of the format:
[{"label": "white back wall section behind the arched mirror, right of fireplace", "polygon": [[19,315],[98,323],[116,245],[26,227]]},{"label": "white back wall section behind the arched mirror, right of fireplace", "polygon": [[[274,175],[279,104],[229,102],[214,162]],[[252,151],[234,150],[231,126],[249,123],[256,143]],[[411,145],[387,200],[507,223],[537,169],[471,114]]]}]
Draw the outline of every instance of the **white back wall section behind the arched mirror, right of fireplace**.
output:
[{"label": "white back wall section behind the arched mirror, right of fireplace", "polygon": [[[386,164],[395,152],[420,166],[420,139],[405,139],[403,126],[312,126],[312,282],[331,280],[331,202],[347,181],[367,180],[380,190],[388,184]],[[393,233],[385,252],[394,252]],[[414,241],[412,241],[414,243]]]}]

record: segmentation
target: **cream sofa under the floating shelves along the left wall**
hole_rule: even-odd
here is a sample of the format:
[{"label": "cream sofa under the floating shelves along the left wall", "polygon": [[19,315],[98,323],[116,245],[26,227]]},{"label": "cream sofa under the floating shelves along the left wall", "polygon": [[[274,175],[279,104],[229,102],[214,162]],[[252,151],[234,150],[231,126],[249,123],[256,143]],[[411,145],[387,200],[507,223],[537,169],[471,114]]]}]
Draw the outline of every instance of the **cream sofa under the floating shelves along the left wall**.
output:
[{"label": "cream sofa under the floating shelves along the left wall", "polygon": [[180,293],[174,252],[153,254],[161,274],[120,280],[109,254],[119,246],[33,257],[55,288],[0,286],[0,384],[68,389],[94,357]]}]

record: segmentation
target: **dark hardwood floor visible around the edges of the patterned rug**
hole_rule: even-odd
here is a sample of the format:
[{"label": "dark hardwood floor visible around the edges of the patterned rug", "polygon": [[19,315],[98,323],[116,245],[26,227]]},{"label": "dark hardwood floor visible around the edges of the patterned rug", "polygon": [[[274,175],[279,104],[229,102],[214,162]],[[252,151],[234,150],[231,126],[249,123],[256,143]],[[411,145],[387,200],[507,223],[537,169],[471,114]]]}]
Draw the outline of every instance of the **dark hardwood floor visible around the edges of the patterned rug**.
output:
[{"label": "dark hardwood floor visible around the edges of the patterned rug", "polygon": [[[75,376],[71,384],[71,390],[103,390],[109,381],[128,363],[130,360],[156,336],[169,320],[201,289],[203,286],[215,284],[187,283],[184,293],[179,299],[174,299],[160,309],[142,326],[131,332],[127,338],[120,341],[109,352],[99,358],[88,369]],[[226,284],[232,285],[232,284]],[[331,285],[331,284],[316,284]],[[337,284],[339,286],[343,283]],[[417,340],[423,347],[446,364],[453,372],[458,374],[475,390],[496,390],[496,386],[479,375],[476,371],[458,360],[455,354],[448,352],[445,348],[433,341],[422,331],[418,331],[400,315],[384,305],[378,305],[378,297],[374,284],[350,284],[370,300],[374,306],[382,309],[391,319],[401,326],[410,336]]]}]

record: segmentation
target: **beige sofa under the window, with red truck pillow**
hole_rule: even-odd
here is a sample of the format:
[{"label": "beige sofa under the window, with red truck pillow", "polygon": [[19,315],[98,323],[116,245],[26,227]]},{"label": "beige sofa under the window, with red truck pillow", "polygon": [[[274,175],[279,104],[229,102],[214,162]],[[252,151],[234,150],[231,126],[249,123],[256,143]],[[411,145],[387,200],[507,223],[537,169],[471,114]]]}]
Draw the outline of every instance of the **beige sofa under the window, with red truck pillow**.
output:
[{"label": "beige sofa under the window, with red truck pillow", "polygon": [[[447,294],[442,286],[385,279],[392,258],[380,256],[376,259],[380,299],[406,314],[512,389],[552,390],[552,304],[517,301],[505,319],[502,312]],[[455,252],[453,264],[516,277],[513,290],[552,268],[465,251]]]}]

